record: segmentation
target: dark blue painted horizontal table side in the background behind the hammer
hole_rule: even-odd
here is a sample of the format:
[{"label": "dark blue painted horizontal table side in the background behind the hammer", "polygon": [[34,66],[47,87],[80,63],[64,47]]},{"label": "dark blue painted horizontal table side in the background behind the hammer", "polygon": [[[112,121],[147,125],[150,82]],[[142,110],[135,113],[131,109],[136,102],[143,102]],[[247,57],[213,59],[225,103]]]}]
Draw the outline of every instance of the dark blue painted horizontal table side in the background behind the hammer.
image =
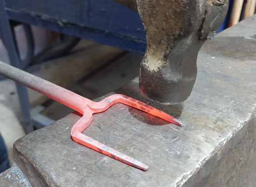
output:
[{"label": "dark blue painted horizontal table side in the background behind the hammer", "polygon": [[113,0],[6,0],[5,9],[11,20],[145,52],[139,14]]}]

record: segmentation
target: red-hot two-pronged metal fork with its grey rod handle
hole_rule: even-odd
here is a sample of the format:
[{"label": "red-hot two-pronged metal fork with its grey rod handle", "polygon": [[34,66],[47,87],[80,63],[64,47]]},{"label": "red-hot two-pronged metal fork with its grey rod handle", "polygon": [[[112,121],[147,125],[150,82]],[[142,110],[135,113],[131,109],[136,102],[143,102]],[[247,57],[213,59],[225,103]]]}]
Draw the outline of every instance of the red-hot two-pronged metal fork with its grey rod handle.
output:
[{"label": "red-hot two-pronged metal fork with its grey rod handle", "polygon": [[93,120],[93,114],[104,112],[116,103],[122,103],[160,117],[175,125],[182,126],[182,124],[174,117],[139,100],[135,100],[125,95],[114,94],[105,98],[104,100],[101,100],[100,102],[94,102],[63,87],[55,85],[54,83],[41,79],[30,73],[24,72],[1,61],[0,74],[20,82],[21,84],[39,93],[42,93],[47,97],[56,100],[82,114],[83,116],[81,119],[78,120],[71,129],[71,137],[75,142],[94,149],[95,151],[98,151],[102,154],[108,155],[130,166],[139,168],[143,171],[148,169],[147,165],[82,134],[82,132],[88,127],[88,125],[90,125],[91,121]]}]

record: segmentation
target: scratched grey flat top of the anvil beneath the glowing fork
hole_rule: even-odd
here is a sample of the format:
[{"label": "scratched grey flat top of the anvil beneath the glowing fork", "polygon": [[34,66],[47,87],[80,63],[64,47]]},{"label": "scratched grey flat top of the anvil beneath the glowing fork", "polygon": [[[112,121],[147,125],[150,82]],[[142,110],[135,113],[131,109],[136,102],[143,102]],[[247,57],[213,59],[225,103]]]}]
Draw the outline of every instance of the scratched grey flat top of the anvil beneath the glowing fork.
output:
[{"label": "scratched grey flat top of the anvil beneath the glowing fork", "polygon": [[[213,158],[221,160],[229,156],[229,152],[217,153],[222,153],[224,148],[231,149],[230,145],[236,147],[237,138],[247,132],[241,129],[255,119],[255,19],[256,16],[244,20],[204,44],[198,57],[194,90],[183,104],[168,107],[142,98],[137,79],[117,91],[174,115],[183,121],[184,127],[167,124],[121,104],[94,115],[84,134],[142,161],[149,166],[148,171],[130,167],[72,141],[70,129],[80,118],[75,114],[16,141],[14,160],[23,165],[23,170],[35,168],[43,176],[42,184],[50,186],[184,185],[208,161],[216,164],[211,161]],[[243,134],[238,136],[239,133]],[[250,134],[250,155],[255,155],[253,137],[256,136]],[[236,168],[223,168],[231,169]],[[225,174],[220,171],[219,175]],[[220,181],[227,182],[232,177],[234,174],[225,175]]]}]

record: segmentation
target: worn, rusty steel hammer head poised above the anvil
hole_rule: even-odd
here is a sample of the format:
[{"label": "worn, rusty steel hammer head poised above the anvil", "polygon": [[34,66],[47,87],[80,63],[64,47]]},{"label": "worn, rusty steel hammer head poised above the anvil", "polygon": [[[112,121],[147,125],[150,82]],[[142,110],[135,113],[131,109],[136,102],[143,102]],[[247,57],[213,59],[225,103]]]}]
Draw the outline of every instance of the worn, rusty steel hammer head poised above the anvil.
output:
[{"label": "worn, rusty steel hammer head poised above the anvil", "polygon": [[195,84],[197,54],[221,25],[228,0],[137,0],[137,9],[147,35],[141,93],[168,105],[187,100]]}]

